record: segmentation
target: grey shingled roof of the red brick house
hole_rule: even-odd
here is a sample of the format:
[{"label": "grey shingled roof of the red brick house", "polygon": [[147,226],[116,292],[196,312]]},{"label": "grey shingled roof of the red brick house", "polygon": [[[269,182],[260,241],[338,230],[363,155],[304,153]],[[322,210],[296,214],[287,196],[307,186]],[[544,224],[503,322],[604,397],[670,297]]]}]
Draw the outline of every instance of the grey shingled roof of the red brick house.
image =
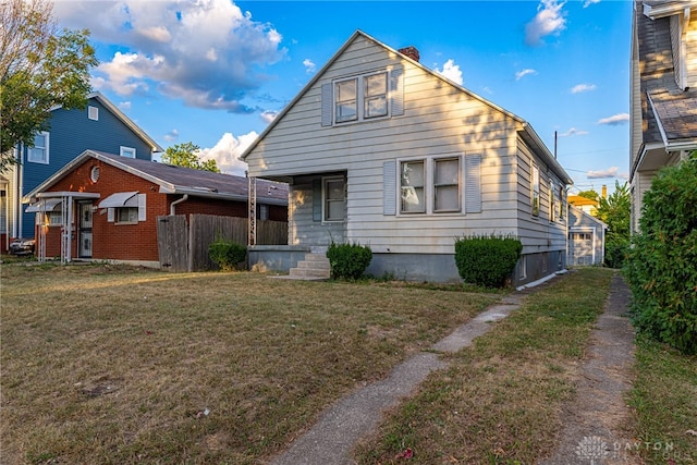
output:
[{"label": "grey shingled roof of the red brick house", "polygon": [[[52,184],[65,178],[73,169],[85,160],[94,158],[119,168],[136,176],[146,179],[160,186],[161,194],[188,194],[196,197],[218,198],[224,200],[247,201],[248,179],[211,171],[194,170],[156,161],[138,160],[95,150],[85,150],[54,175],[28,193],[23,201],[41,197]],[[127,188],[127,186],[124,186]],[[288,205],[288,185],[265,180],[257,180],[257,203],[269,205]]]}]

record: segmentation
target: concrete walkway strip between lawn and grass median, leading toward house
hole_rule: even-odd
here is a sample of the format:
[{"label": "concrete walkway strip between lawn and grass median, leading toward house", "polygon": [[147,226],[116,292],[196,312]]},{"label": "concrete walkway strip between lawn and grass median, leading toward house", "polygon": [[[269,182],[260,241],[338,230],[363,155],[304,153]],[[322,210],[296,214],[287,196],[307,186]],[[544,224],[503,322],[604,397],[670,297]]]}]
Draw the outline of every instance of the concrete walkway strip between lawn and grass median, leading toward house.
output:
[{"label": "concrete walkway strip between lawn and grass median, leading toward house", "polygon": [[403,397],[412,395],[419,383],[433,370],[448,364],[440,353],[454,353],[472,344],[484,334],[491,322],[505,318],[519,307],[529,291],[504,297],[499,304],[457,328],[452,334],[396,366],[388,378],[368,384],[340,400],[320,417],[319,421],[291,448],[271,462],[273,465],[348,465],[356,442],[377,428],[386,409],[396,406]]}]

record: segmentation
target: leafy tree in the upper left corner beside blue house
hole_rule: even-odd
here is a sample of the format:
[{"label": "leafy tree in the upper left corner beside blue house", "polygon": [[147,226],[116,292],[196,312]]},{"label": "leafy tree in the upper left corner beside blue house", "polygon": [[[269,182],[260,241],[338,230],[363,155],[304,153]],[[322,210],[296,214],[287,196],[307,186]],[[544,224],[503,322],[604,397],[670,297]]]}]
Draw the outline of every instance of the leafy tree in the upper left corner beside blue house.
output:
[{"label": "leafy tree in the upper left corner beside blue house", "polygon": [[89,70],[98,64],[88,30],[59,30],[45,0],[0,2],[0,171],[10,151],[47,131],[51,108],[85,108]]}]

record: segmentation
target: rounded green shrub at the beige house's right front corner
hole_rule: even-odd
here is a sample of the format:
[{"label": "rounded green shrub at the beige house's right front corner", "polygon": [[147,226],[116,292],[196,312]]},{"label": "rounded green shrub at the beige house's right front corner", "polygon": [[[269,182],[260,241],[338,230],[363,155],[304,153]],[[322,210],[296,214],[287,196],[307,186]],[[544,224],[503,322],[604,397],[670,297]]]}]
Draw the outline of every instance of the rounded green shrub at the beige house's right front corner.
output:
[{"label": "rounded green shrub at the beige house's right front corner", "polygon": [[465,283],[503,287],[518,261],[523,244],[512,236],[455,238],[455,265]]}]

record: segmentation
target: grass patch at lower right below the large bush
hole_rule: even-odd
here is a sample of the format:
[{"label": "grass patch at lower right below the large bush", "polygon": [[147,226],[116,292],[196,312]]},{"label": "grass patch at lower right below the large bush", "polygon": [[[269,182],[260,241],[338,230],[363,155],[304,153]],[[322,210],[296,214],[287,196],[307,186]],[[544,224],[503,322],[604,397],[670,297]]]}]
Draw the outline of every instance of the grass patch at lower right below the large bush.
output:
[{"label": "grass patch at lower right below the large bush", "polygon": [[639,338],[635,357],[629,403],[636,439],[629,445],[647,464],[697,462],[697,356]]}]

